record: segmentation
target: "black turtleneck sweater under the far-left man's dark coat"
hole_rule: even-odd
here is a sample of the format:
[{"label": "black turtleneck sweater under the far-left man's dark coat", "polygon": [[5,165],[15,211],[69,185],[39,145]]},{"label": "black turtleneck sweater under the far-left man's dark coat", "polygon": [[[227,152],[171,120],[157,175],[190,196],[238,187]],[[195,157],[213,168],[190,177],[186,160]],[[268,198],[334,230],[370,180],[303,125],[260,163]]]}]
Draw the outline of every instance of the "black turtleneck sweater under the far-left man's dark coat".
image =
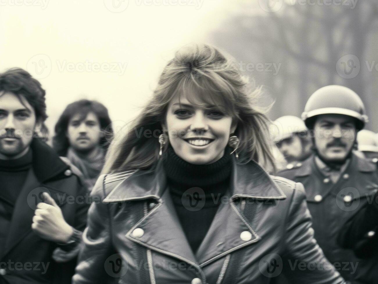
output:
[{"label": "black turtleneck sweater under the far-left man's dark coat", "polygon": [[14,160],[0,160],[0,251],[11,224],[14,205],[32,166],[32,152]]}]

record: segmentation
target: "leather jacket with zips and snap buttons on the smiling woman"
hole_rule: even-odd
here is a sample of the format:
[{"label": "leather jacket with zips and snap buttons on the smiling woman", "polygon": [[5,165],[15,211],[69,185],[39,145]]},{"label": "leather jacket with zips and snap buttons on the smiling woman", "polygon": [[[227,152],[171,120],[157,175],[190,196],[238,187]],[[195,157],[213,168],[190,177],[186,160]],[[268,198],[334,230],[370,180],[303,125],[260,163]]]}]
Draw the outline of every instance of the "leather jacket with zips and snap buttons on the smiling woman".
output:
[{"label": "leather jacket with zips and snap buttons on the smiling woman", "polygon": [[[303,186],[270,177],[254,162],[232,163],[229,198],[196,253],[161,161],[154,170],[100,176],[92,194],[102,202],[88,212],[73,283],[260,284],[283,271],[291,283],[342,283],[313,238]],[[299,263],[310,269],[285,270]]]}]

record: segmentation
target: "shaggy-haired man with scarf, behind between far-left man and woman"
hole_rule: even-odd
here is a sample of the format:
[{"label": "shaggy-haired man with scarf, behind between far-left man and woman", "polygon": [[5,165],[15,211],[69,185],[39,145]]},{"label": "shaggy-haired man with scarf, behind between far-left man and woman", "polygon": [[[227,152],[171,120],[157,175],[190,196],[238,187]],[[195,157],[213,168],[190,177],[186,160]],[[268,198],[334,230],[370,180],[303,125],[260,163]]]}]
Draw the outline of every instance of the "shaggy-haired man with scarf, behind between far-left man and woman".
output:
[{"label": "shaggy-haired man with scarf, behind between far-left man and woman", "polygon": [[79,100],[69,104],[60,115],[53,147],[79,168],[90,191],[102,170],[112,136],[107,108],[98,101]]}]

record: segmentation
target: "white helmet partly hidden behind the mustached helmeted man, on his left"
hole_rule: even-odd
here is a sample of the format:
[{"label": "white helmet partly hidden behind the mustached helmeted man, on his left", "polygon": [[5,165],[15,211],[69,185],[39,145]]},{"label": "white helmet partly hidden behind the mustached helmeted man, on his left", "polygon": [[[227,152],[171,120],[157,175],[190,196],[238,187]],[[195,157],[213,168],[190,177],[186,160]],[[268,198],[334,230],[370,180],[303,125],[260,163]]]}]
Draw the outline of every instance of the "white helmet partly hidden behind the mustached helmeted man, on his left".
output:
[{"label": "white helmet partly hidden behind the mustached helmeted man, on his left", "polygon": [[274,143],[291,137],[294,133],[307,132],[305,123],[299,117],[285,115],[273,121],[272,136]]}]

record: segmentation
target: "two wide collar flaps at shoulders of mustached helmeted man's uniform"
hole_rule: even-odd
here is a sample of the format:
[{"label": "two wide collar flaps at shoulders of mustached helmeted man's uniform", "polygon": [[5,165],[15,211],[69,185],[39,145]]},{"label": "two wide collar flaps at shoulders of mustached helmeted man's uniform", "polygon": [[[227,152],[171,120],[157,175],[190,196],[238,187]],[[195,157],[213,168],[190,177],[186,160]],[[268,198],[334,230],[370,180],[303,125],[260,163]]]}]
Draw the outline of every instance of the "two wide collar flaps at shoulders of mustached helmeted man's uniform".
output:
[{"label": "two wide collar flaps at shoulders of mustached helmeted man's uniform", "polygon": [[[315,165],[315,155],[311,155],[305,161],[303,161],[302,166],[297,168],[295,176],[296,177],[306,177],[313,174]],[[356,167],[360,172],[374,172],[376,170],[376,164],[371,163],[369,160],[360,158],[354,153],[350,159],[349,167]]]}]

